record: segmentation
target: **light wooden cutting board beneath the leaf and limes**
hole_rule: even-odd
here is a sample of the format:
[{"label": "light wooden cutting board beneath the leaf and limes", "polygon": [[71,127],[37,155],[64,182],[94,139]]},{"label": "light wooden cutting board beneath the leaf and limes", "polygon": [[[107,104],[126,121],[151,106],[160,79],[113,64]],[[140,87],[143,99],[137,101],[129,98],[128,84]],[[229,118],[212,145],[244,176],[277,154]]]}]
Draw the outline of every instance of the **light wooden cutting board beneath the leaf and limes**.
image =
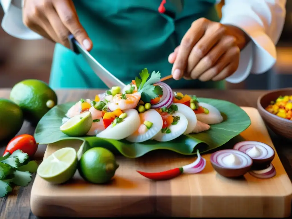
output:
[{"label": "light wooden cutting board beneath the leaf and limes", "polygon": [[[241,133],[246,140],[272,141],[257,109],[242,107],[251,126]],[[44,158],[61,147],[79,149],[81,141],[49,144]],[[94,185],[77,173],[64,185],[51,185],[38,175],[32,186],[30,205],[36,216],[119,217],[160,215],[173,217],[287,217],[291,213],[292,184],[279,160],[272,164],[277,175],[257,179],[227,179],[218,175],[203,156],[206,168],[198,174],[183,174],[168,181],[154,182],[135,170],[164,171],[192,163],[196,157],[170,151],[153,151],[137,159],[117,157],[120,167],[108,185]]]}]

